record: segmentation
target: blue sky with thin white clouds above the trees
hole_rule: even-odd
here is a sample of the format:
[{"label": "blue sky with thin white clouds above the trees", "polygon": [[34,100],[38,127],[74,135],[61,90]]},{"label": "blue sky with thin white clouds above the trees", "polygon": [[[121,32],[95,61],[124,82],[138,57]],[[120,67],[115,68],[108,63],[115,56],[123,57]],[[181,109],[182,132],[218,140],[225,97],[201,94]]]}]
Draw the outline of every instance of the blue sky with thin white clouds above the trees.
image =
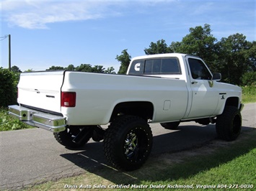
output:
[{"label": "blue sky with thin white clouds above the trees", "polygon": [[20,70],[81,64],[114,67],[127,49],[145,55],[151,42],[181,42],[190,27],[210,24],[213,37],[244,34],[255,41],[255,0],[10,1],[1,0],[1,63]]}]

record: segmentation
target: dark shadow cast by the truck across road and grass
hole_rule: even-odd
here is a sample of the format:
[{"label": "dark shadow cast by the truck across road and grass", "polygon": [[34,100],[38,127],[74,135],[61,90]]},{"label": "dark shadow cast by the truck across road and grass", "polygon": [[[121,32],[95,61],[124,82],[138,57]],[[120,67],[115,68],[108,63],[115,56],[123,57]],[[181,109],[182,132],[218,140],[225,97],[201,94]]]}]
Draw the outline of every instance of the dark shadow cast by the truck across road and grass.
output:
[{"label": "dark shadow cast by the truck across road and grass", "polygon": [[[248,134],[247,131],[252,131],[254,128],[242,127],[242,134]],[[200,137],[200,141],[198,141]],[[241,139],[242,135],[236,141]],[[163,169],[156,169],[157,163],[159,162],[159,155],[164,157],[165,154],[179,154],[182,151],[187,151],[190,149],[195,149],[211,144],[212,141],[219,141],[221,144],[226,144],[226,141],[218,140],[215,126],[181,126],[178,131],[170,131],[166,134],[160,134],[154,136],[154,146],[152,148],[151,156],[147,160],[141,169],[137,169],[133,172],[123,172],[113,167],[110,167],[105,156],[103,154],[102,142],[92,142],[86,144],[83,148],[84,151],[71,154],[61,154],[61,157],[69,160],[70,162],[76,164],[76,166],[81,167],[87,172],[96,174],[105,180],[113,182],[115,185],[133,185],[140,184],[141,180],[144,181],[164,181],[164,180],[178,180],[180,178],[190,177],[193,174],[198,174],[198,172],[211,169],[213,167],[218,167],[219,164],[224,164],[229,162],[231,159],[239,157],[247,152],[250,152],[250,149],[244,149],[242,152],[237,152],[228,158],[221,158],[221,161],[216,162],[216,164],[209,164],[207,167],[200,167],[200,170],[195,170],[191,174],[182,174],[185,172],[185,169],[182,169],[182,165],[178,165],[180,168],[180,173],[175,174],[175,177],[172,177],[170,173],[169,177],[152,175],[151,169],[154,169],[154,173],[161,174]],[[213,155],[211,157],[214,157]],[[162,158],[161,158],[162,159]],[[169,161],[172,162],[172,159]],[[175,162],[175,161],[174,161]],[[198,162],[199,163],[199,162]],[[171,164],[170,164],[171,165]],[[198,164],[200,165],[200,164]],[[175,165],[174,165],[175,168]],[[171,175],[172,174],[172,175]],[[98,182],[100,185],[100,182]],[[87,182],[84,182],[87,184]],[[107,186],[107,185],[105,185]]]}]

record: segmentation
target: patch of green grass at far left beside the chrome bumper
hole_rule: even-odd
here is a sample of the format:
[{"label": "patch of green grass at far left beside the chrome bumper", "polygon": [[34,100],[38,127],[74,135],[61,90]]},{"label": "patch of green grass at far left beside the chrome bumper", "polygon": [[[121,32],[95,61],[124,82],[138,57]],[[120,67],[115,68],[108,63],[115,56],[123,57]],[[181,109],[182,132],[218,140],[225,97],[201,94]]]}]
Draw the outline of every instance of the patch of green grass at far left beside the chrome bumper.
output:
[{"label": "patch of green grass at far left beside the chrome bumper", "polygon": [[12,116],[9,116],[6,108],[0,108],[0,131],[12,131],[29,128],[33,127],[22,123],[22,121],[19,121]]}]

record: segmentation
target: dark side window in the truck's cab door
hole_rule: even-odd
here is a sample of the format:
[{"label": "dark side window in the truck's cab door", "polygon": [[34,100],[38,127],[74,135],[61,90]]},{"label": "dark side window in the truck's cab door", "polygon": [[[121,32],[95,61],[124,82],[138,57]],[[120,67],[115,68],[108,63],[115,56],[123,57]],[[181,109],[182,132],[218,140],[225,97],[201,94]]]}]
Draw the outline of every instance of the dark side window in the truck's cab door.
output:
[{"label": "dark side window in the truck's cab door", "polygon": [[190,72],[193,79],[211,80],[211,73],[201,60],[189,58]]}]

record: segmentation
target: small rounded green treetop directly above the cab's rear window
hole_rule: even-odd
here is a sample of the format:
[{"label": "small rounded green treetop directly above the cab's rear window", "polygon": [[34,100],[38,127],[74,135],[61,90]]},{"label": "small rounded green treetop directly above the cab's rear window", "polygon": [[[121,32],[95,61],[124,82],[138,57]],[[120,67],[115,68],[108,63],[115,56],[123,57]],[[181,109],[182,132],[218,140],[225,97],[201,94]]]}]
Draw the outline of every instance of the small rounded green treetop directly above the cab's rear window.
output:
[{"label": "small rounded green treetop directly above the cab's rear window", "polygon": [[159,39],[156,43],[151,42],[149,48],[145,48],[146,55],[156,55],[174,52],[171,47],[168,47],[164,39]]}]

